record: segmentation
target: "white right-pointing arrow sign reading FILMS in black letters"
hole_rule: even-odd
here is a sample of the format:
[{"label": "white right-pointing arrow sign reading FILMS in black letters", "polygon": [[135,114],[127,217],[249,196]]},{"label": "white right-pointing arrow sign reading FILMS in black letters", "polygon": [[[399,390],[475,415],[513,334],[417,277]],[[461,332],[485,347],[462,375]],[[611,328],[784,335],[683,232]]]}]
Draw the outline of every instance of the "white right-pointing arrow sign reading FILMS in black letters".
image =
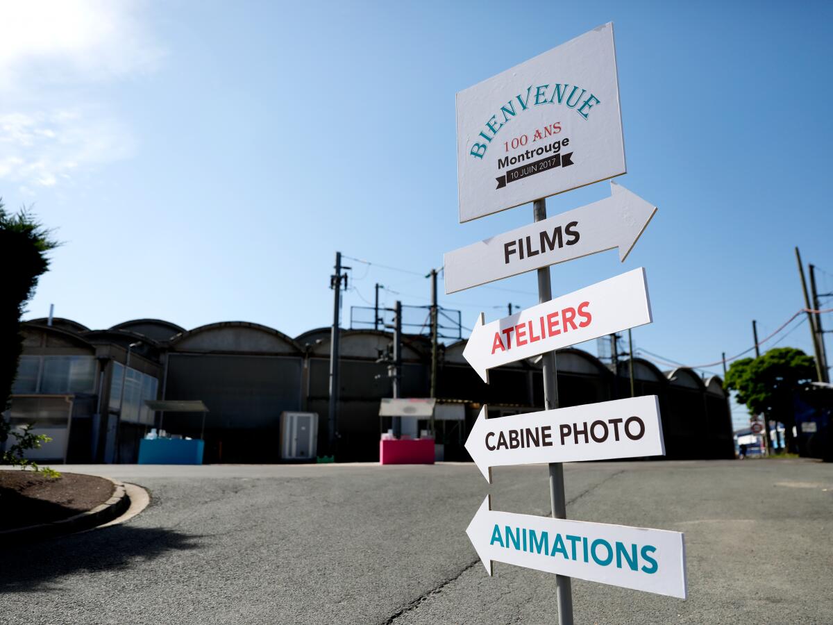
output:
[{"label": "white right-pointing arrow sign reading FILMS in black letters", "polygon": [[446,253],[446,294],[613,248],[624,261],[654,213],[611,182],[610,198]]}]

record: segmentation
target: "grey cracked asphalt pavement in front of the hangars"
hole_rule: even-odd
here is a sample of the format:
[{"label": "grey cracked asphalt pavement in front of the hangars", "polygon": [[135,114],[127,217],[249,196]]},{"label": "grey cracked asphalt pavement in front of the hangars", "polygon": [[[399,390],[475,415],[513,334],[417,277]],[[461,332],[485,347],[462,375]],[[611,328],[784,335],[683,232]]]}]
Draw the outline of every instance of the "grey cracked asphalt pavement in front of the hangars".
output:
[{"label": "grey cracked asphalt pavement in front of the hangars", "polygon": [[[551,623],[555,579],[496,563],[465,534],[549,508],[546,468],[473,465],[72,467],[139,483],[116,527],[4,545],[0,623]],[[686,532],[685,602],[574,581],[576,623],[833,623],[833,465],[566,467],[568,512]]]}]

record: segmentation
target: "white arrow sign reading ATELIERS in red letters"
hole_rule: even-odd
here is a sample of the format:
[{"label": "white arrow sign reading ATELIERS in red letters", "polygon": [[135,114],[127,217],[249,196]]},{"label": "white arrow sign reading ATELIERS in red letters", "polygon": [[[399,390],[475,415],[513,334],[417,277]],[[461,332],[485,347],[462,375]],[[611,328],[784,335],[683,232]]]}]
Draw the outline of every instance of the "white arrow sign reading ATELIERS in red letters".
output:
[{"label": "white arrow sign reading ATELIERS in red letters", "polygon": [[488,384],[491,368],[645,323],[651,303],[638,268],[491,323],[480,313],[463,357]]}]

